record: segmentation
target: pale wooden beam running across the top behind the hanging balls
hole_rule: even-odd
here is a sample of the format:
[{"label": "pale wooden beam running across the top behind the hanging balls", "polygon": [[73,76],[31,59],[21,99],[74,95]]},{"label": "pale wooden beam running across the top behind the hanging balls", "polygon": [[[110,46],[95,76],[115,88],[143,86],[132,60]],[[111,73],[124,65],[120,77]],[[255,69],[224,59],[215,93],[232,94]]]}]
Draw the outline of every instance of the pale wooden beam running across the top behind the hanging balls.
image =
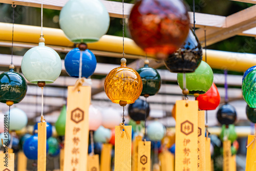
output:
[{"label": "pale wooden beam running across the top behind the hanging balls", "polygon": [[[68,0],[44,0],[43,7],[47,9],[61,10],[61,8],[68,2]],[[108,10],[111,17],[122,18],[122,3],[113,1],[101,0],[106,10]],[[37,7],[41,8],[40,0],[0,0],[0,3]],[[128,18],[133,4],[124,3],[124,17]],[[193,13],[189,12],[190,24],[193,24]],[[196,27],[225,27],[225,16],[196,13]]]}]

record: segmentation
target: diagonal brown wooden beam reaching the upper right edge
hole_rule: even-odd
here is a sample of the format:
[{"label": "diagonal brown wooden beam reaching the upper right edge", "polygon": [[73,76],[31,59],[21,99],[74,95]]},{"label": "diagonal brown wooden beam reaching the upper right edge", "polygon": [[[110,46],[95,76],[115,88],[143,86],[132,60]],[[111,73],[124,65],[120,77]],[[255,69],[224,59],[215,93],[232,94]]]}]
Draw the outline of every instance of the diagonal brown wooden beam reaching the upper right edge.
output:
[{"label": "diagonal brown wooden beam reaching the upper right edge", "polygon": [[[212,45],[232,36],[241,34],[243,31],[256,27],[256,5],[246,8],[226,17],[226,28],[206,28],[206,44]],[[204,28],[196,30],[196,34],[204,46]]]}]

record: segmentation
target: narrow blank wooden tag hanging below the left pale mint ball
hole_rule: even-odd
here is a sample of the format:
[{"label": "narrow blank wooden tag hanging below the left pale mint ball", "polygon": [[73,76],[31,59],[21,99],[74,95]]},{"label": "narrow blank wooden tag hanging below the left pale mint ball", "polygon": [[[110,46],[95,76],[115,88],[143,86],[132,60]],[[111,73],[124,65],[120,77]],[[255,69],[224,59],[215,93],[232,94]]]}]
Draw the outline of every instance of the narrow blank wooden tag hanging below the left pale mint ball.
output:
[{"label": "narrow blank wooden tag hanging below the left pale mint ball", "polygon": [[46,171],[46,124],[39,122],[38,126],[38,153],[37,153],[37,170]]}]

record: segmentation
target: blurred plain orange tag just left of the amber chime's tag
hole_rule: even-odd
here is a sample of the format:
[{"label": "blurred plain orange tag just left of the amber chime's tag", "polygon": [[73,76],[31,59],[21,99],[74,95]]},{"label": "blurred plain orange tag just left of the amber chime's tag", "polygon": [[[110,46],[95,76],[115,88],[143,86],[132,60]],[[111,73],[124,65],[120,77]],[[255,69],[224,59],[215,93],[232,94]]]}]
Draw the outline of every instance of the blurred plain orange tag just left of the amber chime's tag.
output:
[{"label": "blurred plain orange tag just left of the amber chime's tag", "polygon": [[102,144],[100,170],[111,171],[112,144]]}]

